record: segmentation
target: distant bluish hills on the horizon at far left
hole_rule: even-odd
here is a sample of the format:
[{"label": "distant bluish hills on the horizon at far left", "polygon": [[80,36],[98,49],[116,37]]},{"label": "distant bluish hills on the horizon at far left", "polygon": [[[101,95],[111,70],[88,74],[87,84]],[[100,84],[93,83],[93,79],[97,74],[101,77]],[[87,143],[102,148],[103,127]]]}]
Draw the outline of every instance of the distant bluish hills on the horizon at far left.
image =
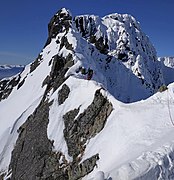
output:
[{"label": "distant bluish hills on the horizon at far left", "polygon": [[14,76],[23,70],[24,66],[16,65],[0,65],[0,79],[5,77]]}]

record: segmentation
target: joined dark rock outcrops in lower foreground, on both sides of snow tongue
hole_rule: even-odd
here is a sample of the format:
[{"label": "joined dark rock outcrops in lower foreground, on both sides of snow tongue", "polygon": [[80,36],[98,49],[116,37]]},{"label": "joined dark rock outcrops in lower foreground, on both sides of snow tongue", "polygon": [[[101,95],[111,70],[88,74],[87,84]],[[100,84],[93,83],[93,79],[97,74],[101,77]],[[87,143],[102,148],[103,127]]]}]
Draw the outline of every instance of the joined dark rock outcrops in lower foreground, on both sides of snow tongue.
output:
[{"label": "joined dark rock outcrops in lower foreground, on both sides of snow tongue", "polygon": [[[96,166],[99,159],[98,154],[82,163],[80,163],[81,158],[78,155],[79,153],[83,155],[85,142],[102,130],[106,118],[112,111],[112,105],[103,97],[100,90],[97,90],[92,104],[76,118],[75,122],[74,119],[78,115],[79,109],[64,115],[64,135],[68,152],[73,155],[73,161],[68,162],[61,152],[52,151],[53,142],[47,137],[49,106],[51,104],[52,102],[48,103],[47,100],[42,100],[35,112],[19,128],[19,137],[12,152],[9,166],[12,180],[28,178],[78,180],[93,171]],[[72,130],[74,124],[77,129]],[[70,131],[70,133],[66,131]],[[76,150],[78,153],[75,153]]]}]

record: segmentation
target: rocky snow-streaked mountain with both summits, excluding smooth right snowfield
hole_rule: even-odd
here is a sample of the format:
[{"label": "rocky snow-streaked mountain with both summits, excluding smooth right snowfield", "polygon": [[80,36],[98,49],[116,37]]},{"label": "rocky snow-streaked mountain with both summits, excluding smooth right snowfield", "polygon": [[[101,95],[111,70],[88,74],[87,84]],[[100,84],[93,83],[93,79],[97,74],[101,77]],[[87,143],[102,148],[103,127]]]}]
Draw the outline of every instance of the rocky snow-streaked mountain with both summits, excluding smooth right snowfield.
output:
[{"label": "rocky snow-streaked mountain with both summits, excluding smooth right snowfield", "polygon": [[130,15],[73,18],[63,8],[48,31],[36,60],[0,81],[1,179],[82,179],[100,160],[100,152],[84,153],[114,111],[108,94],[134,102],[164,83],[155,49]]}]

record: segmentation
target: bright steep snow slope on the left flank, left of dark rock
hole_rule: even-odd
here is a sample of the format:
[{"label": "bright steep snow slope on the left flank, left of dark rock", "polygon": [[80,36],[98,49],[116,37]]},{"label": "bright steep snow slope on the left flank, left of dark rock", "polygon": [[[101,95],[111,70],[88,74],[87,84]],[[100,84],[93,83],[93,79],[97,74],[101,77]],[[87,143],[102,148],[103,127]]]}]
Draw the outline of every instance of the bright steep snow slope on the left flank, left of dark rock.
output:
[{"label": "bright steep snow slope on the left flank, left of dark rock", "polygon": [[[52,44],[47,48],[49,49]],[[47,50],[45,49],[45,51]],[[50,59],[55,55],[54,49],[49,55],[43,51],[44,59]],[[40,66],[30,73],[30,65],[20,74],[21,87],[15,86],[7,99],[0,102],[0,169],[3,172],[8,168],[11,152],[18,138],[18,128],[27,120],[39,105],[45,87],[42,83],[50,72],[48,61],[41,62]]]}]

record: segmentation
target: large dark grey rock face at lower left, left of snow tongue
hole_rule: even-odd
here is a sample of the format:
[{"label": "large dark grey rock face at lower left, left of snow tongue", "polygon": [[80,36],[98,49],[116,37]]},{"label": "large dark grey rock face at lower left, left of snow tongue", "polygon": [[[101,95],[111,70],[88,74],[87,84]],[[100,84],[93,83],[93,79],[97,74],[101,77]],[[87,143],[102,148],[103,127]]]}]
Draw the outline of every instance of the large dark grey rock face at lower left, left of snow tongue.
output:
[{"label": "large dark grey rock face at lower left, left of snow tongue", "polygon": [[42,101],[35,112],[19,128],[19,137],[10,163],[12,180],[69,179],[66,170],[69,164],[65,157],[61,158],[63,154],[52,151],[53,142],[47,137],[50,104]]}]

